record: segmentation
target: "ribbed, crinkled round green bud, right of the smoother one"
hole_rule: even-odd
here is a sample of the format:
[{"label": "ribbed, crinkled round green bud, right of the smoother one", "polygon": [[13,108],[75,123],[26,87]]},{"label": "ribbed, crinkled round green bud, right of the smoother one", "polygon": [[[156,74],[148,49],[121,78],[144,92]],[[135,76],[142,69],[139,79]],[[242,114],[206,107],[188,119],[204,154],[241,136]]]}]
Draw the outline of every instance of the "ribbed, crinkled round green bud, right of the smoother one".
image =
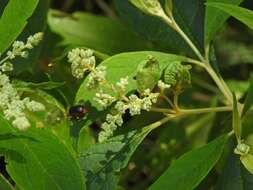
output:
[{"label": "ribbed, crinkled round green bud, right of the smoother one", "polygon": [[164,82],[171,85],[173,91],[181,93],[185,88],[191,85],[190,69],[190,65],[172,62],[164,71]]}]

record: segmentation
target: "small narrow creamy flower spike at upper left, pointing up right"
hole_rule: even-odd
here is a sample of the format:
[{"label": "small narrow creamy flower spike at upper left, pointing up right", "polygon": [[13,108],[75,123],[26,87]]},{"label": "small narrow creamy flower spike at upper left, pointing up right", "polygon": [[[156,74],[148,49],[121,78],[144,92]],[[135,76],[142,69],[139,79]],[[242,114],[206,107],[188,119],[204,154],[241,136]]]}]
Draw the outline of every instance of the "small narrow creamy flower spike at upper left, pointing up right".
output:
[{"label": "small narrow creamy flower spike at upper left, pointing up right", "polygon": [[39,42],[43,38],[43,33],[38,32],[34,34],[33,36],[29,36],[26,43],[22,41],[15,41],[12,44],[12,50],[9,50],[7,52],[7,58],[8,59],[14,59],[17,56],[21,56],[23,58],[27,58],[29,53],[28,49],[33,49],[35,46],[39,44]]}]

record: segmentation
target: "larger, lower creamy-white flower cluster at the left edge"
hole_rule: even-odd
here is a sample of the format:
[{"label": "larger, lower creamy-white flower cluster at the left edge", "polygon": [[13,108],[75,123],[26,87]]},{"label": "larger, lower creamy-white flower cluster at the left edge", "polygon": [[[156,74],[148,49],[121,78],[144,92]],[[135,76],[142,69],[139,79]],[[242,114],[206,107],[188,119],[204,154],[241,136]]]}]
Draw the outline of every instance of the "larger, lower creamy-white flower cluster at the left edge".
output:
[{"label": "larger, lower creamy-white flower cluster at the left edge", "polygon": [[20,130],[29,128],[25,111],[43,111],[43,104],[30,100],[29,98],[20,99],[18,92],[10,83],[9,77],[0,72],[0,110],[6,119],[12,121],[12,125]]}]

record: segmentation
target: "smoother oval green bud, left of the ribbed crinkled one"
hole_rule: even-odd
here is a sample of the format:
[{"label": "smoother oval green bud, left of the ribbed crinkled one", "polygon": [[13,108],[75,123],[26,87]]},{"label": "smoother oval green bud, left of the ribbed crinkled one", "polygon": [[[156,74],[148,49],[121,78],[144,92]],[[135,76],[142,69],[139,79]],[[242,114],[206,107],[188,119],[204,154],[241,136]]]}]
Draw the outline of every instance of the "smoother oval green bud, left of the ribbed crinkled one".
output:
[{"label": "smoother oval green bud, left of the ribbed crinkled one", "polygon": [[148,60],[140,63],[137,68],[136,82],[137,90],[142,93],[146,89],[152,89],[157,84],[161,76],[159,63],[153,56],[149,56]]}]

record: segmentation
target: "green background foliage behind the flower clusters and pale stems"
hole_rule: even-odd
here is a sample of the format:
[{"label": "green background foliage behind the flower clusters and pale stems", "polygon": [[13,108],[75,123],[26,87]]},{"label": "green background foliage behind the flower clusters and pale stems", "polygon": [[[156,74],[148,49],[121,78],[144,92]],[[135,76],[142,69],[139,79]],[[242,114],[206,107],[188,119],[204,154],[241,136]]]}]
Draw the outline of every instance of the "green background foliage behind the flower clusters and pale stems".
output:
[{"label": "green background foliage behind the flower clusters and pale stems", "polygon": [[[253,33],[235,18],[225,23],[228,11],[215,4],[238,5],[242,1],[207,2],[213,6],[205,9],[202,0],[175,0],[175,19],[201,53],[211,42],[212,64],[218,65],[237,97],[245,99],[253,68]],[[250,0],[241,6],[253,9]],[[95,92],[84,88],[85,80],[71,76],[68,50],[94,49],[99,64],[108,67],[110,82],[122,75],[132,77],[127,89],[131,92],[136,89],[136,68],[147,55],[154,55],[163,68],[167,62],[184,61],[172,53],[195,56],[161,20],[141,13],[126,0],[3,0],[0,13],[0,52],[16,38],[45,33],[45,40],[28,60],[14,62],[11,76],[26,81],[16,84],[25,95],[47,105],[46,113],[30,116],[34,126],[40,124],[45,130],[34,127],[28,133],[19,132],[0,117],[0,189],[252,189],[252,175],[233,154],[234,139],[226,135],[216,139],[230,130],[231,113],[190,116],[156,130],[149,124],[162,114],[126,114],[126,122],[115,137],[95,144],[105,113],[93,102]],[[237,10],[229,13],[238,19]],[[252,20],[246,24],[252,27]],[[208,107],[219,105],[220,100],[222,96],[210,77],[193,68],[192,87],[180,97],[180,103],[187,108]],[[88,116],[70,122],[67,110],[83,101]],[[247,113],[243,135],[253,146],[252,122],[252,113]]]}]

